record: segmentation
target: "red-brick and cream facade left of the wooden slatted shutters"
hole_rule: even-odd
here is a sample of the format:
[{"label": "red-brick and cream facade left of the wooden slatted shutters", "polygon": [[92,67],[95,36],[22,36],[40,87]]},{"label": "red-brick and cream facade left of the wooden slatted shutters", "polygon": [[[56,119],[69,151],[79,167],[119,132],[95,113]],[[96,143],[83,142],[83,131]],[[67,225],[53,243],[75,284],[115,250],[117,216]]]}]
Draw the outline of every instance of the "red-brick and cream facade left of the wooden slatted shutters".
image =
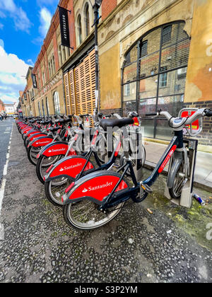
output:
[{"label": "red-brick and cream facade left of the wooden slatted shutters", "polygon": [[[59,1],[62,6],[73,10],[73,1]],[[69,24],[73,23],[69,16]],[[75,35],[70,30],[71,47],[76,47]],[[47,36],[37,57],[33,74],[37,80],[37,89],[33,98],[33,115],[63,115],[66,113],[64,103],[63,72],[61,66],[69,59],[71,49],[61,45],[61,32],[59,26],[59,11],[55,12]]]}]

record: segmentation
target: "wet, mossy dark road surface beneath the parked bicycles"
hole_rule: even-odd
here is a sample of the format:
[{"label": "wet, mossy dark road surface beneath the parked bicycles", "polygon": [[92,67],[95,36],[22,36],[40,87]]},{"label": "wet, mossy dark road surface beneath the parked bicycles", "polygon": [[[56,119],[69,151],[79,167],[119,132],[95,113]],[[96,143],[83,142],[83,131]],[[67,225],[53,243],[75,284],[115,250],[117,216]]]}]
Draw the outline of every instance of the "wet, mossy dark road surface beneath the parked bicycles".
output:
[{"label": "wet, mossy dark road surface beneath the parked bicycles", "polygon": [[75,231],[45,199],[14,125],[0,219],[0,281],[211,282],[211,204],[183,209],[163,197],[164,185],[161,176],[154,194],[142,204],[128,202],[107,226]]}]

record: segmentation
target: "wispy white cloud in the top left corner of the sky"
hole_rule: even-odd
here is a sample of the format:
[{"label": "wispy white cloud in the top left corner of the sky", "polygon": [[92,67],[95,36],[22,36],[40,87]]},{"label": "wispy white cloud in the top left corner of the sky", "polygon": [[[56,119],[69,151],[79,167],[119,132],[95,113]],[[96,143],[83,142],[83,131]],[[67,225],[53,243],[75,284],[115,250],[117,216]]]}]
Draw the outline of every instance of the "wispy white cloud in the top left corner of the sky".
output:
[{"label": "wispy white cloud in the top left corner of the sky", "polygon": [[29,33],[32,24],[25,11],[23,11],[21,7],[16,6],[13,0],[0,0],[0,9],[0,16],[5,16],[2,11],[6,11],[9,13],[9,16],[13,18],[16,30]]}]

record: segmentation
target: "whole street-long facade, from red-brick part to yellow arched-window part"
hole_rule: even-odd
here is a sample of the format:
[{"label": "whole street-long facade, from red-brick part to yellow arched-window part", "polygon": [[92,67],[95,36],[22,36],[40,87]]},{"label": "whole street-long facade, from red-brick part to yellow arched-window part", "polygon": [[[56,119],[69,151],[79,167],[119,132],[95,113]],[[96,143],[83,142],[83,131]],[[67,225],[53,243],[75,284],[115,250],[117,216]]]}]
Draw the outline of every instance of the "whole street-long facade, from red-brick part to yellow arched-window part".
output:
[{"label": "whole street-long facade, from red-brick part to yellow arched-window part", "polygon": [[[95,109],[94,0],[61,0],[69,13],[70,50],[61,46],[58,9],[32,70],[38,88],[33,115],[92,113]],[[145,134],[170,139],[158,109],[212,107],[211,0],[102,0],[98,25],[100,110],[136,110]],[[24,110],[24,109],[23,109]],[[201,144],[212,146],[204,120]]]}]

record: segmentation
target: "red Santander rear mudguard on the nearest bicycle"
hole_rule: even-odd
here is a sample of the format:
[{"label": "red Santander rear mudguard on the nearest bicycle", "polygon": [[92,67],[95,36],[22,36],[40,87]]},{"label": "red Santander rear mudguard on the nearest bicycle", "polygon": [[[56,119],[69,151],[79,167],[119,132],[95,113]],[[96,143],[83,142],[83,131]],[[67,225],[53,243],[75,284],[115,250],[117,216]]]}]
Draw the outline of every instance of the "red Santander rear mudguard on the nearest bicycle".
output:
[{"label": "red Santander rear mudguard on the nearest bicycle", "polygon": [[[66,189],[62,197],[63,204],[88,199],[95,204],[102,205],[108,195],[114,190],[120,178],[121,175],[113,171],[90,173],[75,183],[73,182]],[[129,186],[122,180],[115,192],[124,190],[127,187]]]}]

